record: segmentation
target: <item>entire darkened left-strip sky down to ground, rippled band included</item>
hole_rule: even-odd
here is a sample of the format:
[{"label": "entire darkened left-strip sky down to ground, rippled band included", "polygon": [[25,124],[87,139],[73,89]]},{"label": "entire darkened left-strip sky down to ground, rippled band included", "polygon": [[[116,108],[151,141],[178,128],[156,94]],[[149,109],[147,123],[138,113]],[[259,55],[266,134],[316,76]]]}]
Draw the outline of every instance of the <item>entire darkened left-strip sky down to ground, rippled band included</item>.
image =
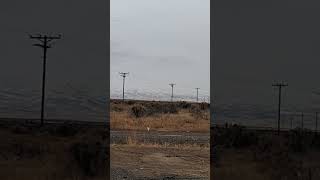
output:
[{"label": "entire darkened left-strip sky down to ground, rippled band included", "polygon": [[107,1],[0,1],[0,117],[39,117],[42,50],[28,34],[61,33],[48,49],[45,112],[49,118],[104,118],[106,101],[89,101],[108,94],[107,19]]}]

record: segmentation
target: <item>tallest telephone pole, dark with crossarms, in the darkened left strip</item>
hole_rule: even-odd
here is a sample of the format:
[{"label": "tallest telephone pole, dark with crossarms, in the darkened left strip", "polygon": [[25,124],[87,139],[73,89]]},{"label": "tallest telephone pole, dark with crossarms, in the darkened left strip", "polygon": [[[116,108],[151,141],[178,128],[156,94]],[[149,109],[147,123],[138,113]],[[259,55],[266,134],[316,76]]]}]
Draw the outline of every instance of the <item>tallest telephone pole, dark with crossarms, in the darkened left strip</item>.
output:
[{"label": "tallest telephone pole, dark with crossarms, in the darkened left strip", "polygon": [[38,34],[36,36],[29,35],[30,39],[36,39],[40,43],[33,44],[42,48],[43,50],[43,73],[42,73],[42,98],[41,98],[41,126],[43,126],[43,116],[44,116],[44,98],[45,98],[45,85],[46,85],[46,64],[47,64],[47,49],[52,46],[49,44],[53,40],[61,39],[61,35],[58,36],[48,36]]}]

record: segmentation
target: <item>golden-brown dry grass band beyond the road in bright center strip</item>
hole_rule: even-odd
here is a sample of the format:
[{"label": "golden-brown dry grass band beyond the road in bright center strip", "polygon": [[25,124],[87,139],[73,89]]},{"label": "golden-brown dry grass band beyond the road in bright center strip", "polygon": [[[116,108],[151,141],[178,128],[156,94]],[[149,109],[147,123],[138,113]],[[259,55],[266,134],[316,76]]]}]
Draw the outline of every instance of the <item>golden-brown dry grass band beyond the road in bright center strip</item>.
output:
[{"label": "golden-brown dry grass band beyond the road in bright center strip", "polygon": [[[146,103],[140,102],[144,106]],[[158,113],[136,118],[130,113],[134,105],[111,103],[110,127],[112,130],[150,130],[157,131],[190,131],[209,132],[209,109],[199,113],[190,111],[190,108],[177,108],[177,113]]]}]

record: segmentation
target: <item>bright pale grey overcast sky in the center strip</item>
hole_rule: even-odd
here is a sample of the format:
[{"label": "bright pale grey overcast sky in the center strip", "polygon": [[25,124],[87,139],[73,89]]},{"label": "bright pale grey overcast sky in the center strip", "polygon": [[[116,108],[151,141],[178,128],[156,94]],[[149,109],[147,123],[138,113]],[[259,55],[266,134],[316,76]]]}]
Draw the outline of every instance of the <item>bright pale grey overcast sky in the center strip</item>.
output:
[{"label": "bright pale grey overcast sky in the center strip", "polygon": [[[209,95],[210,0],[112,0],[111,93],[122,88],[119,72],[130,72],[126,88],[140,92]],[[134,97],[133,97],[134,98]]]}]

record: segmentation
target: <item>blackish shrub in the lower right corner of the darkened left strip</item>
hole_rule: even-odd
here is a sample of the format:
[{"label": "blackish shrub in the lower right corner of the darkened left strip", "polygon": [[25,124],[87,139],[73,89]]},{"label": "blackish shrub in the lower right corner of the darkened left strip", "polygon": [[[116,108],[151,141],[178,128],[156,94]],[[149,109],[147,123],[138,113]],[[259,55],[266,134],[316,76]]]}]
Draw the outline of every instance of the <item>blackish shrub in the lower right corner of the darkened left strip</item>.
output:
[{"label": "blackish shrub in the lower right corner of the darkened left strip", "polygon": [[75,143],[71,152],[84,175],[98,176],[106,173],[107,153],[100,142]]}]

